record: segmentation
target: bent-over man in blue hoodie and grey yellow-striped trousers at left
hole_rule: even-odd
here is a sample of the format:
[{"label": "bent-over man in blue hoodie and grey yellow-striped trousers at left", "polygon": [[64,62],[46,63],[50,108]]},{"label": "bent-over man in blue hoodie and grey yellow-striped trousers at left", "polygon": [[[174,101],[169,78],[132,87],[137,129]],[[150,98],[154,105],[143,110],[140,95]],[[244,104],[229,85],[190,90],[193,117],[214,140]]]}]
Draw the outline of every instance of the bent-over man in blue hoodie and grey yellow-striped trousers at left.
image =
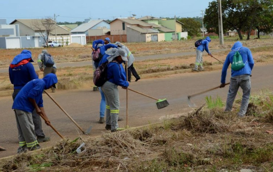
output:
[{"label": "bent-over man in blue hoodie and grey yellow-striped trousers at left", "polygon": [[57,77],[53,73],[47,74],[43,79],[33,79],[20,90],[14,99],[12,109],[15,111],[19,134],[18,153],[40,149],[35,137],[31,113],[36,110],[37,114],[46,119],[45,124],[50,125],[43,107],[42,93],[44,89],[56,88],[57,82]]}]

